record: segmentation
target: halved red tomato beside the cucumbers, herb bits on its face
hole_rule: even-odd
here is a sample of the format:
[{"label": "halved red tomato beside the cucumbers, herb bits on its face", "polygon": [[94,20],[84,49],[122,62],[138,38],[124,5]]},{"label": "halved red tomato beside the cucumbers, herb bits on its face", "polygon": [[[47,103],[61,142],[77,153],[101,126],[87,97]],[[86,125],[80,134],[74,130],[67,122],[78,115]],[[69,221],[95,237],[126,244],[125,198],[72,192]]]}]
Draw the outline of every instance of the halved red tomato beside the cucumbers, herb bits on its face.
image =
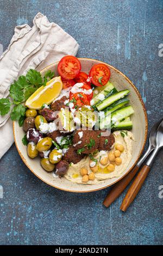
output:
[{"label": "halved red tomato beside the cucumbers, herb bits on its face", "polygon": [[90,70],[89,77],[95,86],[104,86],[110,78],[110,70],[103,63],[95,64]]}]

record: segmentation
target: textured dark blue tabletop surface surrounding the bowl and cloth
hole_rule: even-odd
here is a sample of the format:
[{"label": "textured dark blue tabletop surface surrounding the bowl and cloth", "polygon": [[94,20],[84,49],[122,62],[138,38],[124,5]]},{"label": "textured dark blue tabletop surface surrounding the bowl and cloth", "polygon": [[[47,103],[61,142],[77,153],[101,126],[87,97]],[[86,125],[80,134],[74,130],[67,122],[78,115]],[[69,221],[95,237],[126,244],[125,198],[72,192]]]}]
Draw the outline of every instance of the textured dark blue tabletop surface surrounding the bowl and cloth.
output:
[{"label": "textured dark blue tabletop surface surrounding the bowl and cloth", "polygon": [[[47,15],[79,42],[78,57],[114,65],[140,90],[149,129],[162,115],[162,1],[0,1],[0,44],[7,48],[16,25],[32,26],[37,12]],[[125,192],[109,209],[110,188],[86,194],[59,191],[37,179],[15,145],[1,160],[0,243],[5,245],[160,245],[162,151],[141,192],[126,213]]]}]

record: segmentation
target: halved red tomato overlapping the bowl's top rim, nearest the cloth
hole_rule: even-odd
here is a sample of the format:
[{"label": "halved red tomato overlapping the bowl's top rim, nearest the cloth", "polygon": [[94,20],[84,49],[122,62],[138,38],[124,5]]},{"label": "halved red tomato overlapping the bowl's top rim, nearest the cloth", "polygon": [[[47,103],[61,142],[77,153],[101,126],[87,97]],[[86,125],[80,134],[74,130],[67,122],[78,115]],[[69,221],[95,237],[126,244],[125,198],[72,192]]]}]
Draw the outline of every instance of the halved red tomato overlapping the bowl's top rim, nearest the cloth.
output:
[{"label": "halved red tomato overlapping the bowl's top rim, nearest the cloth", "polygon": [[71,80],[76,77],[81,70],[81,64],[79,60],[71,55],[67,55],[61,58],[58,63],[59,75],[66,80]]}]

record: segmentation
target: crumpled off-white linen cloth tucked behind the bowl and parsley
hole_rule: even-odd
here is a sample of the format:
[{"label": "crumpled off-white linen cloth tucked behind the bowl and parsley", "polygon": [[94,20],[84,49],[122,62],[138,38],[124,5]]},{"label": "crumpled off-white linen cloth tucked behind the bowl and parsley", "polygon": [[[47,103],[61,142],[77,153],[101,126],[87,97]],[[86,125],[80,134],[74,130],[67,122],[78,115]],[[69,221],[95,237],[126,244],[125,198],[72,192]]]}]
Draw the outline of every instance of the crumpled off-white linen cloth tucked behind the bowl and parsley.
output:
[{"label": "crumpled off-white linen cloth tucked behind the bowl and parsley", "polygon": [[[29,69],[40,71],[63,56],[78,52],[77,41],[43,14],[38,13],[33,24],[15,27],[7,50],[0,57],[0,99],[9,95],[10,84]],[[13,142],[9,114],[0,116],[0,159]]]}]

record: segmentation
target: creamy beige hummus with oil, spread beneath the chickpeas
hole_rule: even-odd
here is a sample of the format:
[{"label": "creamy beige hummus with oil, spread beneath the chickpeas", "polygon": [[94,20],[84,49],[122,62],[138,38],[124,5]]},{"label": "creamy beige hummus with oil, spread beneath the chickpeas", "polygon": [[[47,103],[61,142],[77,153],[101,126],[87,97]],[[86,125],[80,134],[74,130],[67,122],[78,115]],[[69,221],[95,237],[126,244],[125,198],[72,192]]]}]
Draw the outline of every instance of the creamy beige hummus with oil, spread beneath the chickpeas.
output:
[{"label": "creamy beige hummus with oil, spread beneath the chickpeas", "polygon": [[[101,163],[99,163],[99,159],[103,155],[108,155],[108,152],[115,151],[115,144],[110,151],[99,151],[98,154],[94,157],[98,161],[99,170],[95,173],[95,180],[89,180],[86,182],[86,184],[98,184],[103,180],[121,176],[124,170],[126,170],[132,157],[132,148],[134,141],[133,133],[131,133],[130,131],[115,131],[112,134],[115,137],[115,144],[118,143],[124,146],[124,150],[121,153],[122,163],[119,166],[115,165],[115,170],[113,172],[109,172],[106,167],[109,165],[110,162],[103,166]],[[88,174],[92,172],[90,168],[89,156],[85,157],[76,164],[72,163],[68,169],[68,172],[65,175],[65,178],[73,183],[85,184],[84,182],[82,182],[82,175],[80,175],[80,169],[83,167],[87,168]]]}]

